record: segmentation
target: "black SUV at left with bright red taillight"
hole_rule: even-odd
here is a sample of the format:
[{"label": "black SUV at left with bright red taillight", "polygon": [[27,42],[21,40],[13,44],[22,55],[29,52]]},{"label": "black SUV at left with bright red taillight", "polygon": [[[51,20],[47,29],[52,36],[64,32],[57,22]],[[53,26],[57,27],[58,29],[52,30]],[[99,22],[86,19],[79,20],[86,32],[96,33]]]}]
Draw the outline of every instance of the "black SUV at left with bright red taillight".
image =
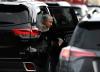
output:
[{"label": "black SUV at left with bright red taillight", "polygon": [[[0,2],[0,71],[36,72],[37,65],[32,55],[39,52],[41,32],[36,27],[38,13],[47,13],[44,3]],[[34,44],[34,45],[35,45]],[[32,50],[32,51],[31,51]],[[37,60],[38,61],[38,60]]]}]

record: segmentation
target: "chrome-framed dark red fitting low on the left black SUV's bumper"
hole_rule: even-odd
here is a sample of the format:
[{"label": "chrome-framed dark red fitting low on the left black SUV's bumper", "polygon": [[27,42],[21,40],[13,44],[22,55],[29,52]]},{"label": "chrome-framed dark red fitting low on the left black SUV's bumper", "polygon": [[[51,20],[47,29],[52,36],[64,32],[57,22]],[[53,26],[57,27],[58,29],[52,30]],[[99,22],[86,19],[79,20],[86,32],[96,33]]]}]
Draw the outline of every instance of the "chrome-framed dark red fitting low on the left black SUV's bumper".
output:
[{"label": "chrome-framed dark red fitting low on the left black SUV's bumper", "polygon": [[23,62],[24,68],[28,72],[36,72],[36,66],[32,62]]}]

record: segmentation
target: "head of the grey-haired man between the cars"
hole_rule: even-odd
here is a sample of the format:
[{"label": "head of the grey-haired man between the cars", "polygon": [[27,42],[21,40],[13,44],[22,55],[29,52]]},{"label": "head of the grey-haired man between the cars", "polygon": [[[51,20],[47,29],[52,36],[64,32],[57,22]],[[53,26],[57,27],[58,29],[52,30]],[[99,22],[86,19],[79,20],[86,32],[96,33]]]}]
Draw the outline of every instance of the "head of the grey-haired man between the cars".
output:
[{"label": "head of the grey-haired man between the cars", "polygon": [[42,24],[45,25],[47,28],[50,28],[53,23],[53,17],[51,15],[43,15],[42,17]]}]

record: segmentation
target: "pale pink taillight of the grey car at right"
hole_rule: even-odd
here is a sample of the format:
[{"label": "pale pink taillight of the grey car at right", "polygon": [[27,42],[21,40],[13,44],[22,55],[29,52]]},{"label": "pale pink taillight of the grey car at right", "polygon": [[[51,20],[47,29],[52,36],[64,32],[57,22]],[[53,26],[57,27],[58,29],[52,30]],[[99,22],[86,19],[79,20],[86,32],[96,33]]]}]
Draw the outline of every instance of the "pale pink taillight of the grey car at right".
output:
[{"label": "pale pink taillight of the grey car at right", "polygon": [[91,56],[96,56],[96,54],[94,52],[78,49],[75,47],[63,48],[60,53],[60,57],[64,59],[68,59],[69,57],[91,57]]}]

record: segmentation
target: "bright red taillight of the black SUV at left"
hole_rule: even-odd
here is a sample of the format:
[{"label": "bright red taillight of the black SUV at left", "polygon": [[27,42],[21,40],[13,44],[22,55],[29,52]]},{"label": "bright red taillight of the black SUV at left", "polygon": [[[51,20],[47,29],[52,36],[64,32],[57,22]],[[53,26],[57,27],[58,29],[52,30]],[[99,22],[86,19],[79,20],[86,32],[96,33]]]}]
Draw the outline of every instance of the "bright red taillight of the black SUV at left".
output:
[{"label": "bright red taillight of the black SUV at left", "polygon": [[40,31],[36,28],[29,28],[29,29],[13,29],[12,30],[16,35],[22,38],[29,38],[29,37],[39,37]]}]

